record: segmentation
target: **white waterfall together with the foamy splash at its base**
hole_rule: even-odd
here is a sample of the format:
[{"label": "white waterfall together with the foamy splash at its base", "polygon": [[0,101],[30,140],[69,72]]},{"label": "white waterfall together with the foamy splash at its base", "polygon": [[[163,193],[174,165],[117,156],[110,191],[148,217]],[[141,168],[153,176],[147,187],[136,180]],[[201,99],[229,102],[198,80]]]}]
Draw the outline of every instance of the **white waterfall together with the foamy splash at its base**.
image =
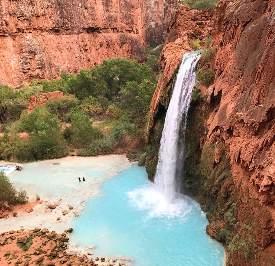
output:
[{"label": "white waterfall together with the foamy splash at its base", "polygon": [[188,52],[182,58],[166,113],[155,184],[128,192],[139,209],[149,210],[149,217],[181,217],[190,212],[187,196],[177,193],[177,180],[184,162],[185,129],[199,52]]}]

